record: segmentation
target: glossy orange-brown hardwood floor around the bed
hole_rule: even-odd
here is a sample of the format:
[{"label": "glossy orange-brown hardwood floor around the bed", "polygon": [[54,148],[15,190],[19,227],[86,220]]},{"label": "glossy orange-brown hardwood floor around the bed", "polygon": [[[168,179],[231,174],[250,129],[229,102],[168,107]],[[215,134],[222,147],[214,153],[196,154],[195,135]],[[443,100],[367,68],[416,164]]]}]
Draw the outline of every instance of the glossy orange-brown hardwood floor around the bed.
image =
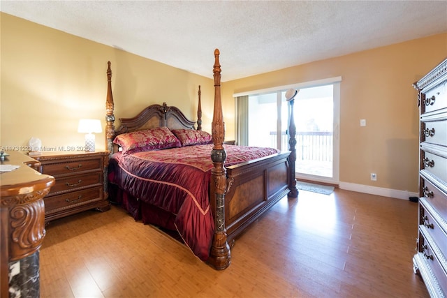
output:
[{"label": "glossy orange-brown hardwood floor around the bed", "polygon": [[215,271],[119,207],[52,221],[41,297],[429,297],[413,274],[418,204],[336,189],[282,199]]}]

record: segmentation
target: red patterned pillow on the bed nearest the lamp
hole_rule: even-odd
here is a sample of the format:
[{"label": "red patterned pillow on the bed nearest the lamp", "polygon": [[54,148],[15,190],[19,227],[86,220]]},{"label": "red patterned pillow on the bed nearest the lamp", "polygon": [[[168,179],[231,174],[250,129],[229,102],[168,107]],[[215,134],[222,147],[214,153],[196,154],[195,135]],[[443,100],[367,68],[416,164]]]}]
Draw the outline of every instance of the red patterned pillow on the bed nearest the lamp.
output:
[{"label": "red patterned pillow on the bed nearest the lamp", "polygon": [[180,141],[167,127],[152,128],[145,131],[134,131],[133,133],[123,133],[117,135],[113,142],[122,147],[123,154],[131,151],[138,152],[182,147]]}]

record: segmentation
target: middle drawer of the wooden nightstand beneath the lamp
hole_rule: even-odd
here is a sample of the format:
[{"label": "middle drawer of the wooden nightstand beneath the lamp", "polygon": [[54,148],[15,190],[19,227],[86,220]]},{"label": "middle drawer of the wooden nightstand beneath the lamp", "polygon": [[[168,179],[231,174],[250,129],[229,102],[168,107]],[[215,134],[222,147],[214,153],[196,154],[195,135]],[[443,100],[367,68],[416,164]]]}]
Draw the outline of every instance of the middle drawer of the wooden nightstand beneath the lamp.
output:
[{"label": "middle drawer of the wooden nightstand beneath the lamp", "polygon": [[102,183],[102,172],[90,172],[87,174],[56,178],[56,184],[51,188],[48,195],[59,195],[89,186],[102,186]]}]

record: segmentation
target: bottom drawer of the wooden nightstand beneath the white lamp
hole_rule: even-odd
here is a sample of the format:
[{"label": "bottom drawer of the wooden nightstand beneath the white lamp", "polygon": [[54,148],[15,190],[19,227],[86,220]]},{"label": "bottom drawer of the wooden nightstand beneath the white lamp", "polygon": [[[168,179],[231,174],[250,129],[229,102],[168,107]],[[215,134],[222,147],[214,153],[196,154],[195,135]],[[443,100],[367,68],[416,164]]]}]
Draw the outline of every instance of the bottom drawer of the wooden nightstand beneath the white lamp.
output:
[{"label": "bottom drawer of the wooden nightstand beneath the white lamp", "polygon": [[102,192],[102,187],[95,187],[82,191],[73,191],[72,193],[65,193],[63,195],[47,197],[44,199],[45,216],[63,211],[65,209],[72,209],[73,207],[101,201],[103,200]]}]

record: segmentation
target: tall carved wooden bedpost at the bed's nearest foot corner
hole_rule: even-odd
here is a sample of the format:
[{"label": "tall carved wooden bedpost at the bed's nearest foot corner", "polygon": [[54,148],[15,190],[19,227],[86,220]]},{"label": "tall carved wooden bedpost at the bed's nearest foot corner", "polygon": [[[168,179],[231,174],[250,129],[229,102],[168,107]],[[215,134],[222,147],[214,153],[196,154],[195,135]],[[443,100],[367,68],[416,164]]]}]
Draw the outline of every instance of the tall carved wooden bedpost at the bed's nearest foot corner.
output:
[{"label": "tall carved wooden bedpost at the bed's nearest foot corner", "polygon": [[227,242],[225,227],[225,191],[227,186],[226,170],[223,163],[226,159],[226,151],[223,148],[225,139],[225,123],[221,103],[221,66],[219,64],[219,50],[214,50],[214,114],[212,117],[212,142],[211,159],[214,167],[211,170],[212,182],[214,182],[214,195],[210,193],[210,200],[215,200],[214,210],[214,238],[208,262],[215,269],[226,269],[230,265],[230,246]]}]

